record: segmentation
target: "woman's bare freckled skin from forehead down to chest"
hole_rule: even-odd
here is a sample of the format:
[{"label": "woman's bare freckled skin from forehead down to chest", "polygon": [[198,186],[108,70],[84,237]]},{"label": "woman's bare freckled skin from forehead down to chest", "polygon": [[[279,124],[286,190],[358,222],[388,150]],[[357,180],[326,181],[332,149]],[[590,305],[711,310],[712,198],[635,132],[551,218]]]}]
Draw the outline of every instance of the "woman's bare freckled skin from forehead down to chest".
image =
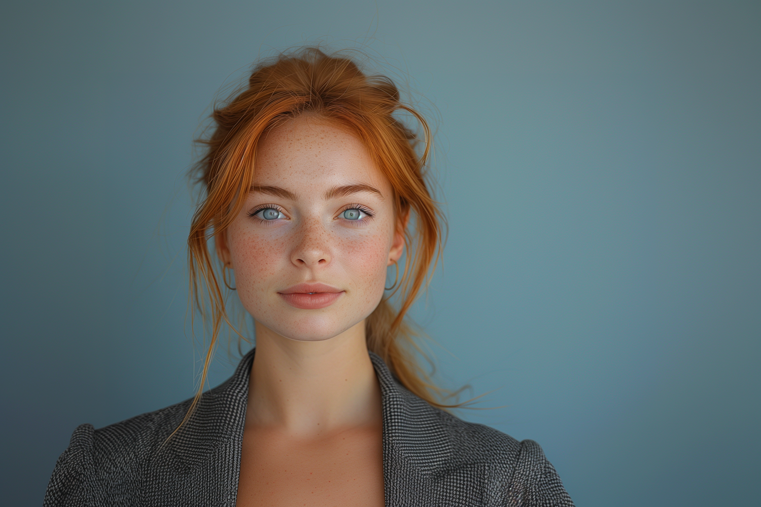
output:
[{"label": "woman's bare freckled skin from forehead down to chest", "polygon": [[[217,243],[256,323],[237,505],[384,505],[380,386],[365,319],[402,255],[406,220],[364,144],[314,116],[263,136],[255,173]],[[356,209],[360,220],[345,218]],[[296,308],[282,291],[301,283],[339,296]]]}]

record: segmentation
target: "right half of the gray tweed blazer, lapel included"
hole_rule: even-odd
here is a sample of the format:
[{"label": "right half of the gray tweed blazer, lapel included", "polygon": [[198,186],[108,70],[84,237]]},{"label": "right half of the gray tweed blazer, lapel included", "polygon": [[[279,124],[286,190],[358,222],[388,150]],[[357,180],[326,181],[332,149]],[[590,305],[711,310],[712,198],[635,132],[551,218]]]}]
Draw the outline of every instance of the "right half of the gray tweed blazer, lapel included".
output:
[{"label": "right half of the gray tweed blazer, lapel included", "polygon": [[380,356],[370,357],[383,398],[390,505],[414,497],[420,505],[472,499],[473,505],[572,507],[537,442],[519,442],[433,407],[405,388]]}]

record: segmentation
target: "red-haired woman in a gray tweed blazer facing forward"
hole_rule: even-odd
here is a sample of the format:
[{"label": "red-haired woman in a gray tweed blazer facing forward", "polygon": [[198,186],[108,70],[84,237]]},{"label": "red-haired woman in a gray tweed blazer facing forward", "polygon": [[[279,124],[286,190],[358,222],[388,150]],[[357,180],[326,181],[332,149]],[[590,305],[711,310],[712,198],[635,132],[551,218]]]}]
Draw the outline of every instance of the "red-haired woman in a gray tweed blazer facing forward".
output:
[{"label": "red-haired woman in a gray tweed blazer facing forward", "polygon": [[572,505],[536,442],[442,410],[409,353],[441,230],[428,127],[393,83],[305,49],[259,65],[213,118],[189,236],[212,324],[202,379],[229,290],[256,349],[193,400],[79,426],[45,505]]}]

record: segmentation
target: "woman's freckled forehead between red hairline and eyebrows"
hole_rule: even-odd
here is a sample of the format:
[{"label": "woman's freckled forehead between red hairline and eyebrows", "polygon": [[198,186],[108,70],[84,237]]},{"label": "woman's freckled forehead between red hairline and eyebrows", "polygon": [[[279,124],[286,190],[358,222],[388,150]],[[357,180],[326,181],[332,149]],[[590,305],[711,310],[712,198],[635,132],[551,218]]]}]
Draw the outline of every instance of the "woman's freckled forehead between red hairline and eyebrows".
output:
[{"label": "woman's freckled forehead between red hairline and eyebrows", "polygon": [[288,189],[365,182],[390,191],[362,141],[309,115],[288,119],[262,136],[253,182]]}]

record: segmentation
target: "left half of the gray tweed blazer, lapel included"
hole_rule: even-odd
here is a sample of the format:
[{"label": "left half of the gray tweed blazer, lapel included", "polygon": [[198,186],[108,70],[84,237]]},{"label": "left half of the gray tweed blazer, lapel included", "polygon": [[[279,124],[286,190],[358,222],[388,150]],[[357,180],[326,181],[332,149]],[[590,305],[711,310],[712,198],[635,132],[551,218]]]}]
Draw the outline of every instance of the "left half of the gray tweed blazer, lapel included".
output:
[{"label": "left half of the gray tweed blazer, lapel included", "polygon": [[227,381],[206,391],[174,436],[192,399],[100,429],[79,426],[56,463],[44,505],[209,505],[229,496],[251,360],[253,351]]}]

